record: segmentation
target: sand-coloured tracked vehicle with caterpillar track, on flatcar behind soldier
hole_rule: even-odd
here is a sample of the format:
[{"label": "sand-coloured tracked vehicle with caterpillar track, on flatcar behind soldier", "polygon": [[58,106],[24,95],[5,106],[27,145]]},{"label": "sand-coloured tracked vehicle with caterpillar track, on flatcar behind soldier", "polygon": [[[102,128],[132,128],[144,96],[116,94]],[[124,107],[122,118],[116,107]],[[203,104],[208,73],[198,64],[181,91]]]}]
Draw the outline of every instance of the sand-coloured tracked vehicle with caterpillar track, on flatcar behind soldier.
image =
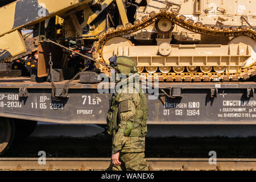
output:
[{"label": "sand-coloured tracked vehicle with caterpillar track, on flatcar behind soldier", "polygon": [[98,36],[94,57],[106,63],[114,54],[132,57],[142,75],[160,81],[247,79],[256,69],[254,3],[147,1],[133,24]]}]

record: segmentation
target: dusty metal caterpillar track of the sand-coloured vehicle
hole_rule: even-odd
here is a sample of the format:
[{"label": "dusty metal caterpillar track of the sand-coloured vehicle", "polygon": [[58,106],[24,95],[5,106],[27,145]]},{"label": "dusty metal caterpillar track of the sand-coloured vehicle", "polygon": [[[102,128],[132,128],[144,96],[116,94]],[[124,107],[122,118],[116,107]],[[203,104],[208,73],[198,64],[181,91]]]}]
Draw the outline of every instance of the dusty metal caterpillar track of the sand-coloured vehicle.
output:
[{"label": "dusty metal caterpillar track of the sand-coloured vehicle", "polygon": [[[222,36],[222,37],[232,37],[232,36],[249,36],[251,39],[256,41],[256,31],[247,26],[210,26],[209,24],[202,24],[201,22],[194,22],[192,19],[187,19],[184,15],[179,15],[177,11],[171,10],[171,12],[167,11],[167,9],[160,9],[159,13],[155,13],[152,11],[149,16],[143,16],[142,20],[135,20],[134,23],[127,23],[125,26],[119,25],[117,28],[109,28],[108,30],[102,32],[97,36],[98,41],[93,43],[93,58],[99,61],[105,62],[101,57],[102,47],[104,44],[111,38],[117,36],[123,36],[127,34],[131,34],[133,32],[142,30],[143,28],[149,26],[152,23],[155,23],[160,18],[167,18],[171,20],[172,23],[175,23],[177,26],[183,27],[186,30],[195,32],[201,35],[207,36]],[[109,72],[108,69],[102,69],[103,72]],[[256,65],[251,65],[250,67],[244,68],[240,73],[141,73],[141,75],[147,80],[154,80],[156,76],[158,76],[159,81],[167,81],[167,82],[209,82],[209,81],[238,81],[248,80],[250,77],[256,75]]]}]

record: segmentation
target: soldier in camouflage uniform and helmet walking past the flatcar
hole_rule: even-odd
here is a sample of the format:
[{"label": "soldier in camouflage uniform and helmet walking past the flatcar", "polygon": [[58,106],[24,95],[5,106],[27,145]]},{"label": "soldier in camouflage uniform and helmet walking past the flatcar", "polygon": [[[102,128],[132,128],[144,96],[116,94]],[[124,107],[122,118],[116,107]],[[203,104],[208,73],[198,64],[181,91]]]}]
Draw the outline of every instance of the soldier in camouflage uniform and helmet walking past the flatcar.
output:
[{"label": "soldier in camouflage uniform and helmet walking past the flatcar", "polygon": [[[136,63],[130,57],[113,56],[109,60],[117,73],[125,76],[137,73],[138,76]],[[112,162],[107,170],[148,169],[144,157],[147,116],[146,96],[139,85],[126,84],[121,92],[112,96],[107,115],[108,133],[113,135]]]}]

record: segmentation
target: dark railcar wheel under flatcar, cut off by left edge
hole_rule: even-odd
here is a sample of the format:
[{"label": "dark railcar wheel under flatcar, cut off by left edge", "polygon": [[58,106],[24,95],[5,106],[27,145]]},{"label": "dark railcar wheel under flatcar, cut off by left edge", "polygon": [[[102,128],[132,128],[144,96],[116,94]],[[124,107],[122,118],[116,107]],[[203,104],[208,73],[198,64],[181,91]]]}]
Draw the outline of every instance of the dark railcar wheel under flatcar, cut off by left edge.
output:
[{"label": "dark railcar wheel under flatcar, cut off by left edge", "polygon": [[14,123],[9,118],[0,118],[0,155],[11,145],[14,138]]}]

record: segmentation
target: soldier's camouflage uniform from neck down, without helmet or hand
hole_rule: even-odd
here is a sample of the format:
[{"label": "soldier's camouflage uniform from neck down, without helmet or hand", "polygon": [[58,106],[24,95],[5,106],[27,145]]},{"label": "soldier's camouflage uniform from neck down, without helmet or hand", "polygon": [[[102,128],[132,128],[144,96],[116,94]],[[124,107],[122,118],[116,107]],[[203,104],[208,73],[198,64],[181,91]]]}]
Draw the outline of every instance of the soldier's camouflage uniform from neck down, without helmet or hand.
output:
[{"label": "soldier's camouflage uniform from neck down, without helmet or hand", "polygon": [[[126,88],[122,89],[122,92],[118,93],[116,96],[113,96],[115,104],[118,105],[118,113],[116,116],[118,128],[116,130],[117,133],[114,134],[112,140],[112,150],[120,152],[119,161],[121,162],[121,165],[114,166],[114,164],[111,162],[108,170],[145,171],[148,169],[144,155],[144,135],[146,134],[147,130],[145,126],[146,120],[142,126],[143,114],[147,114],[147,109],[146,112],[143,110],[145,107],[147,108],[147,104],[145,103],[146,98],[144,97],[142,100],[142,97],[139,94],[143,94],[141,88],[135,89],[134,87],[129,86],[130,85],[126,86]],[[142,101],[145,103],[143,107]],[[110,108],[112,106],[110,106]],[[128,137],[126,137],[127,134],[125,130],[127,129],[127,125],[129,123],[132,123],[130,127],[131,130]]]}]

